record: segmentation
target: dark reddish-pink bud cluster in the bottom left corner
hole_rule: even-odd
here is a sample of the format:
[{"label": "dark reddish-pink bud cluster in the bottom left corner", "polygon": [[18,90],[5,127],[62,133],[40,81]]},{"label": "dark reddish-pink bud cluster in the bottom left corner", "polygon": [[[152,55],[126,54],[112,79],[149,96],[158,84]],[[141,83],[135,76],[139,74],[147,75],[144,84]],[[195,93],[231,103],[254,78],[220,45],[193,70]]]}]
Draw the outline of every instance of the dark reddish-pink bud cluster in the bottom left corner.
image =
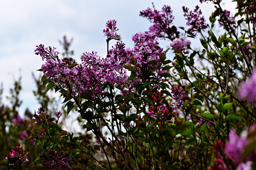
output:
[{"label": "dark reddish-pink bud cluster in the bottom left corner", "polygon": [[17,161],[19,162],[19,164],[21,164],[26,161],[29,161],[27,159],[27,154],[28,153],[25,153],[25,151],[23,151],[22,145],[15,144],[15,146],[12,148],[11,152],[5,159],[8,159],[10,165],[15,164]]}]

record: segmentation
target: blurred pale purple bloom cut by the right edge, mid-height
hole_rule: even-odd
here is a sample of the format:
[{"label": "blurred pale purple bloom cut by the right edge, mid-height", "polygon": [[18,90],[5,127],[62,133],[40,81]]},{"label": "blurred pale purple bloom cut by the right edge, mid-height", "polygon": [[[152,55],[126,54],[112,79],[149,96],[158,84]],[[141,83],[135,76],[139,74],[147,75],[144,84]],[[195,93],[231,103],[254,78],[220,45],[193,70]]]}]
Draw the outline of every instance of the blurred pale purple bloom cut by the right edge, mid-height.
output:
[{"label": "blurred pale purple bloom cut by the right edge, mid-height", "polygon": [[242,82],[238,91],[240,98],[247,100],[248,102],[256,101],[256,69],[250,79],[246,82]]}]

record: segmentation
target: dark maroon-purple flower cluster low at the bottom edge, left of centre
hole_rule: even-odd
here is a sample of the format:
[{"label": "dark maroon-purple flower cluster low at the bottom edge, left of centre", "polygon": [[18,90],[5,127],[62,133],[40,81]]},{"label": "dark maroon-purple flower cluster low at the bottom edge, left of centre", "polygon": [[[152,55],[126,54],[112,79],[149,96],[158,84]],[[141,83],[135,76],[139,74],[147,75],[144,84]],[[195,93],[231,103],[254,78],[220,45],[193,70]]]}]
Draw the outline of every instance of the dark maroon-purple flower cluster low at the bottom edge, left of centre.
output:
[{"label": "dark maroon-purple flower cluster low at the bottom edge, left of centre", "polygon": [[72,165],[71,157],[67,153],[48,151],[39,153],[39,158],[42,161],[43,170],[67,170]]}]

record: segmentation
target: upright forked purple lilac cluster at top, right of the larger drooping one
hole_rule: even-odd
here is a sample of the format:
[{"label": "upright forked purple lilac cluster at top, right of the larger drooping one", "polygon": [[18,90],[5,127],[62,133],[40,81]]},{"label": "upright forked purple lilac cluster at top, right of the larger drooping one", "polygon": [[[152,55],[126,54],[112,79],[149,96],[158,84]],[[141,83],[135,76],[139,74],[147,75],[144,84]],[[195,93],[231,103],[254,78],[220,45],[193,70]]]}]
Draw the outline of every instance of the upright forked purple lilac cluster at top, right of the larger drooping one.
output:
[{"label": "upright forked purple lilac cluster at top, right of the larger drooping one", "polygon": [[199,9],[199,6],[195,6],[194,12],[188,11],[189,9],[187,7],[182,7],[184,12],[184,17],[187,20],[186,25],[191,26],[189,29],[189,33],[192,35],[196,35],[197,33],[201,33],[201,31],[204,31],[208,26],[205,23],[204,17],[202,15],[201,9]]}]

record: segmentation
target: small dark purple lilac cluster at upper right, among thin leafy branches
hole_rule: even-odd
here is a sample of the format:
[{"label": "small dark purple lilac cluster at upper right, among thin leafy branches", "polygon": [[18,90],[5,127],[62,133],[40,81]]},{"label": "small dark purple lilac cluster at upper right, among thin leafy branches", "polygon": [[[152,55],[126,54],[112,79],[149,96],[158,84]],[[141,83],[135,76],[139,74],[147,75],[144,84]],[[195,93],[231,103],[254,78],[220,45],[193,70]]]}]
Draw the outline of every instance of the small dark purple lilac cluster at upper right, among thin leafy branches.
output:
[{"label": "small dark purple lilac cluster at upper right, among thin leafy branches", "polygon": [[[221,11],[220,11],[221,12]],[[220,19],[218,19],[219,25],[225,27],[226,29],[229,29],[228,25],[232,26],[236,24],[235,18],[230,15],[230,11],[224,10],[220,14]]]}]

